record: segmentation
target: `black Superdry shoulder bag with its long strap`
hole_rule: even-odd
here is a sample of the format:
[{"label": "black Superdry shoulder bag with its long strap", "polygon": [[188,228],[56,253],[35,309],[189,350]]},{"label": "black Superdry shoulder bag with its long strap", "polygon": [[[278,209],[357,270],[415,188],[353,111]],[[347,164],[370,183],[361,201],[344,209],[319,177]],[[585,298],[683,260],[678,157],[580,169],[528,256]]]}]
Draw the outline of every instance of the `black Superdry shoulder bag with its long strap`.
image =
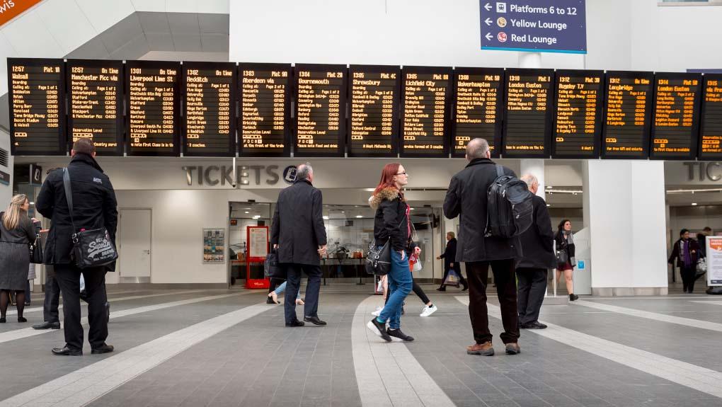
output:
[{"label": "black Superdry shoulder bag with its long strap", "polygon": [[63,186],[65,188],[65,198],[70,211],[70,222],[73,225],[74,233],[70,235],[73,240],[73,251],[71,258],[78,268],[91,268],[106,266],[118,259],[118,251],[116,245],[110,240],[108,229],[100,227],[98,229],[86,230],[75,227],[73,220],[73,192],[70,185],[70,173],[67,168],[63,169]]}]

